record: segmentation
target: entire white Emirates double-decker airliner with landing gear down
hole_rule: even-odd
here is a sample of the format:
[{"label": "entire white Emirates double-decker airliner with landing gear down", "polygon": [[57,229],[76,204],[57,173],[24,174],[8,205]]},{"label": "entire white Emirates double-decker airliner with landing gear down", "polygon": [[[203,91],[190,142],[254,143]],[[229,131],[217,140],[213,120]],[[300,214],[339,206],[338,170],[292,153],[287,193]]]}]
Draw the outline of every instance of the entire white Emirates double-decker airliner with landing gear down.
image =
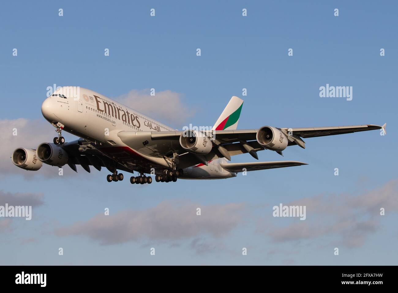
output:
[{"label": "entire white Emirates double-decker airliner with landing gear down", "polygon": [[[213,128],[174,130],[144,114],[98,92],[72,87],[57,89],[41,105],[44,118],[56,129],[53,143],[44,142],[37,149],[17,148],[12,162],[25,170],[39,170],[43,163],[77,172],[81,165],[99,171],[106,167],[107,181],[120,181],[118,170],[139,175],[131,183],[176,182],[183,179],[224,179],[238,172],[307,165],[298,161],[228,163],[231,156],[249,153],[258,160],[258,151],[282,151],[288,146],[305,148],[303,138],[382,129],[385,126],[355,125],[314,128],[277,128],[237,130],[243,100],[233,96]],[[65,142],[62,131],[80,137]]]}]

